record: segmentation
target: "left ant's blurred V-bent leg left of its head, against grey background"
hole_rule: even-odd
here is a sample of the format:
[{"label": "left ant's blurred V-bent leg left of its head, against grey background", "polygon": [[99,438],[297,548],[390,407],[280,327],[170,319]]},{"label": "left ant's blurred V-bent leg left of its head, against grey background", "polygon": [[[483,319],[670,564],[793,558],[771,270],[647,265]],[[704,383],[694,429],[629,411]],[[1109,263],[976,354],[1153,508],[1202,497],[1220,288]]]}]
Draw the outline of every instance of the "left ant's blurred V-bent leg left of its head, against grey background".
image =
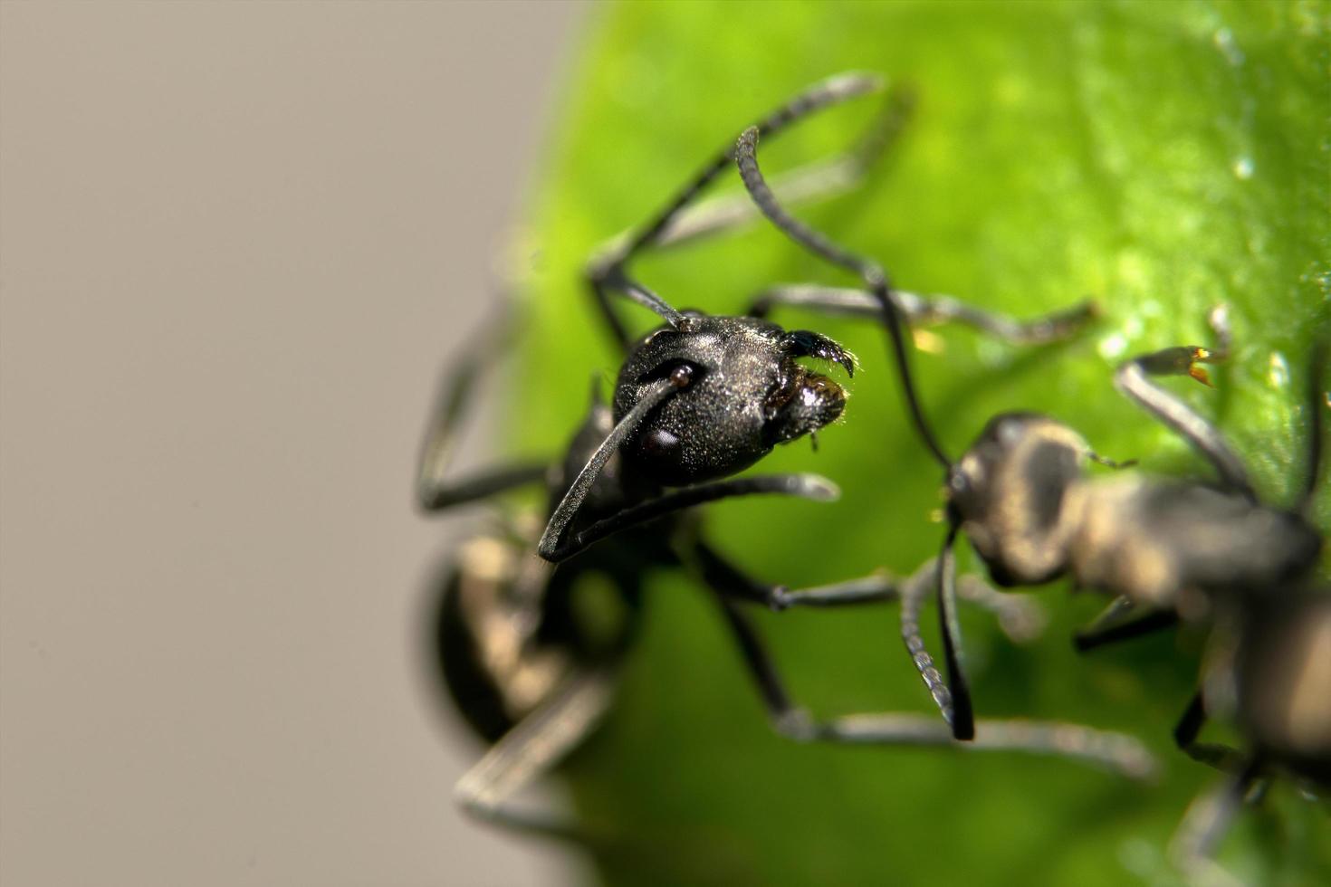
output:
[{"label": "left ant's blurred V-bent leg left of its head, against grey background", "polygon": [[421,460],[417,469],[417,501],[427,512],[443,511],[462,503],[494,496],[514,487],[535,483],[546,476],[544,463],[519,463],[478,472],[465,479],[450,479],[449,465],[457,451],[462,418],[467,411],[480,374],[496,352],[503,351],[510,330],[503,317],[486,324],[471,346],[459,354],[445,372],[439,396],[430,415]]}]

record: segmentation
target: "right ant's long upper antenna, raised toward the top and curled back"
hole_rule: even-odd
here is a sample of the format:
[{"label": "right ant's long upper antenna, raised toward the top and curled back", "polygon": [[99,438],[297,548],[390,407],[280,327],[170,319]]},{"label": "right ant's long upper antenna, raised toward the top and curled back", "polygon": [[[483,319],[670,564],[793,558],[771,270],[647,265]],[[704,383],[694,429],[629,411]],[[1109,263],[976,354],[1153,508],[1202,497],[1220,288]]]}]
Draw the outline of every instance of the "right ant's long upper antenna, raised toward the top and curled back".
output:
[{"label": "right ant's long upper antenna, raised toward the top and curled back", "polygon": [[757,140],[760,134],[761,129],[759,126],[749,126],[740,134],[739,142],[735,145],[735,161],[740,168],[740,178],[744,180],[744,188],[763,214],[787,237],[815,255],[839,265],[853,274],[858,274],[869,291],[878,299],[878,305],[882,307],[882,320],[892,339],[892,354],[897,364],[897,374],[901,378],[901,387],[916,431],[918,431],[920,438],[929,448],[929,452],[933,453],[933,457],[944,468],[952,468],[952,460],[948,459],[937,438],[934,438],[929,423],[924,418],[920,400],[916,398],[914,378],[910,372],[910,356],[906,350],[905,335],[901,331],[901,309],[892,295],[892,285],[888,282],[888,275],[876,262],[837,246],[781,207],[776,199],[776,194],[772,193],[772,189],[763,178],[763,172],[757,166]]}]

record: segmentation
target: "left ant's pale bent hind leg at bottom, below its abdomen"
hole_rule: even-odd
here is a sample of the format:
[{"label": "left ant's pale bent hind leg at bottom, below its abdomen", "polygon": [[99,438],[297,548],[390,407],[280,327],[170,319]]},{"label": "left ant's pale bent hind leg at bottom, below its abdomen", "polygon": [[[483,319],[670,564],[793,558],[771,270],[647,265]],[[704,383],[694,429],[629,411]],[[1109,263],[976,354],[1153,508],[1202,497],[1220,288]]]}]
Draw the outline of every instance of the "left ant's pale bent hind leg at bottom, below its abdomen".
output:
[{"label": "left ant's pale bent hind leg at bottom, below its abdomen", "polygon": [[615,690],[612,669],[570,676],[538,709],[508,733],[458,781],[454,798],[473,817],[506,828],[595,844],[584,828],[548,813],[510,806],[514,795],[550,773],[604,715]]}]

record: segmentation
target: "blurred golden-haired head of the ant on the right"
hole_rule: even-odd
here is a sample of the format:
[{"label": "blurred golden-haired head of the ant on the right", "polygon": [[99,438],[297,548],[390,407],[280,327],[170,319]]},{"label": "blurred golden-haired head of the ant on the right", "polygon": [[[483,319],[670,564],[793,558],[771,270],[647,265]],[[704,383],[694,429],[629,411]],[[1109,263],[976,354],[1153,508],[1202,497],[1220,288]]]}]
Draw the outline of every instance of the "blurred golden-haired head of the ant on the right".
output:
[{"label": "blurred golden-haired head of the ant on the right", "polygon": [[1063,492],[1090,448],[1077,432],[1032,412],[985,426],[948,473],[948,515],[970,539],[996,582],[1034,584],[1062,569],[1049,544]]}]

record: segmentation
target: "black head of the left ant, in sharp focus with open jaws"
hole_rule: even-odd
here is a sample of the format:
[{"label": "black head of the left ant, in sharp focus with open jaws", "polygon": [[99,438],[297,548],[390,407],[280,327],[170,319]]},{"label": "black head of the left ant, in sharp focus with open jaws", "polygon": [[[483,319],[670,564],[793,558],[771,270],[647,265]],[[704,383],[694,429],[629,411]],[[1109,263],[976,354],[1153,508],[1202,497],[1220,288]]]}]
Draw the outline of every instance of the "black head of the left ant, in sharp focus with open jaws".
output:
[{"label": "black head of the left ant, in sharp focus with open jaws", "polygon": [[673,379],[680,391],[647,416],[623,452],[672,487],[752,465],[845,408],[841,386],[796,362],[804,356],[855,371],[855,358],[832,339],[756,318],[691,314],[648,334],[619,372],[615,419],[654,382]]}]

